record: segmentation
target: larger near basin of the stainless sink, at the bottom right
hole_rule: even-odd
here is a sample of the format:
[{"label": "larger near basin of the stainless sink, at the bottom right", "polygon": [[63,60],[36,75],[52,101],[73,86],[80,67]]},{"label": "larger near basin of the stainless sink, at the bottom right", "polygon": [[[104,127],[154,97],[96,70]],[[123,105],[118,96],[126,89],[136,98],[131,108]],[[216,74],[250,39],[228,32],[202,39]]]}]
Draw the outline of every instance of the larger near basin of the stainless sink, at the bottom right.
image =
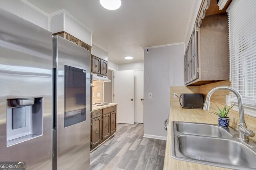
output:
[{"label": "larger near basin of the stainless sink, at the bottom right", "polygon": [[179,151],[188,158],[256,168],[256,153],[244,144],[221,138],[178,136]]}]

